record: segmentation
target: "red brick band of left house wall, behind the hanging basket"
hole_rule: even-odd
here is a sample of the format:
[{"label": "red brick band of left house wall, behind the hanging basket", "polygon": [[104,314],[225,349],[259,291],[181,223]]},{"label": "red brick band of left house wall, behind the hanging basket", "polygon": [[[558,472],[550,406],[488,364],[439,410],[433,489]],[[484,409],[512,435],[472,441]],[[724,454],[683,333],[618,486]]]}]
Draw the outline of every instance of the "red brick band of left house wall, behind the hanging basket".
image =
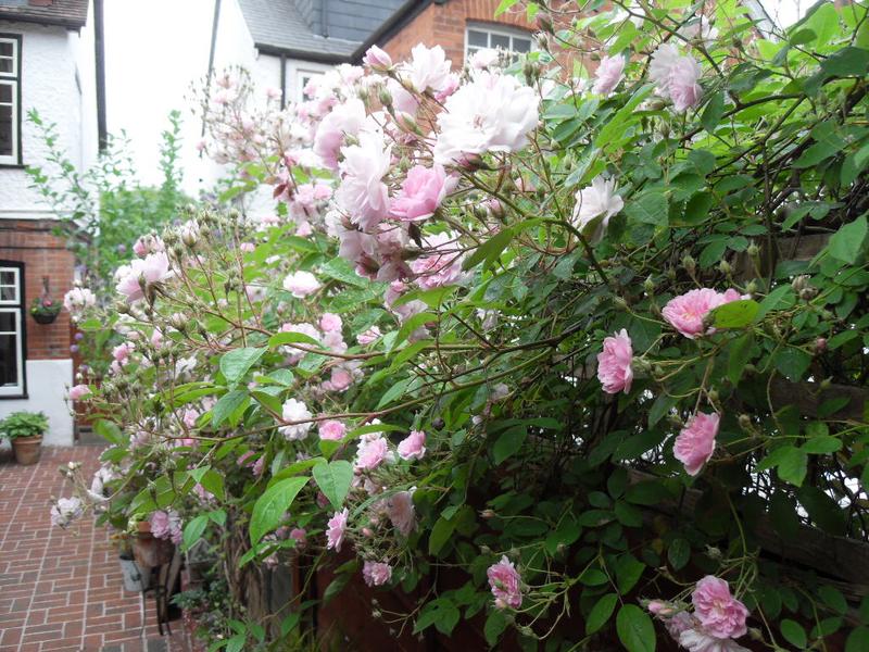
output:
[{"label": "red brick band of left house wall, behind the hanging basket", "polygon": [[61,311],[53,324],[37,324],[30,301],[42,292],[49,277],[51,298],[63,299],[73,286],[75,259],[62,239],[51,234],[54,223],[42,220],[0,221],[0,260],[24,263],[24,324],[27,360],[70,358],[70,314]]}]

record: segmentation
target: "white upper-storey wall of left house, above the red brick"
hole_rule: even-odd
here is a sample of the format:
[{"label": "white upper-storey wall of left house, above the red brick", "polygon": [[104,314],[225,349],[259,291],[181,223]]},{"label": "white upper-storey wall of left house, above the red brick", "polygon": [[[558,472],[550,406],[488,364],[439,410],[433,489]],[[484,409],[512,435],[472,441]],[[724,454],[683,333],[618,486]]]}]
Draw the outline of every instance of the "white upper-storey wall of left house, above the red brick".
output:
[{"label": "white upper-storey wall of left house, above the red brick", "polygon": [[[47,148],[27,112],[36,109],[58,125],[58,145],[70,160],[81,165],[96,151],[89,122],[96,121],[88,102],[93,95],[92,40],[63,27],[27,23],[0,23],[0,32],[22,35],[22,158],[24,165],[43,165]],[[90,57],[88,70],[85,63]],[[76,68],[79,71],[76,82]],[[85,113],[88,111],[88,113]],[[93,129],[96,131],[96,129]],[[84,138],[89,138],[87,143]],[[52,213],[39,193],[29,188],[24,170],[0,168],[0,218],[41,218]]]}]

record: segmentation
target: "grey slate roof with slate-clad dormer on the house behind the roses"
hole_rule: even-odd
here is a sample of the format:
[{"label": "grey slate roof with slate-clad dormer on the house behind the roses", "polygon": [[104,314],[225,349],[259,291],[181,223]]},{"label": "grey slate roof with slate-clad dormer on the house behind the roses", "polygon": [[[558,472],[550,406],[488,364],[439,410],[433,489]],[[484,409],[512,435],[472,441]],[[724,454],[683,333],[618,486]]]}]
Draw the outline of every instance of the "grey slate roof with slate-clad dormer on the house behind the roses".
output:
[{"label": "grey slate roof with slate-clad dormer on the house behind the roses", "polygon": [[406,0],[239,0],[262,50],[349,60]]}]

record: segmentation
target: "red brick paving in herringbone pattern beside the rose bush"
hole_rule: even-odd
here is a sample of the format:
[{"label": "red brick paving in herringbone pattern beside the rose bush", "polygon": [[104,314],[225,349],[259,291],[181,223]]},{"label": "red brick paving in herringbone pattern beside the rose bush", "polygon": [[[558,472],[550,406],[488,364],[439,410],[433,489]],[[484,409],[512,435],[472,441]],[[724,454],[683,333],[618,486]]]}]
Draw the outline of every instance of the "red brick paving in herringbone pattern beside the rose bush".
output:
[{"label": "red brick paving in herringbone pattern beside the rose bush", "polygon": [[[154,602],[124,590],[106,528],[87,518],[61,530],[49,518],[50,497],[70,496],[58,467],[99,466],[100,448],[42,449],[40,462],[18,466],[0,451],[0,651],[186,651],[176,636],[160,638]],[[143,615],[149,626],[142,629]]]}]

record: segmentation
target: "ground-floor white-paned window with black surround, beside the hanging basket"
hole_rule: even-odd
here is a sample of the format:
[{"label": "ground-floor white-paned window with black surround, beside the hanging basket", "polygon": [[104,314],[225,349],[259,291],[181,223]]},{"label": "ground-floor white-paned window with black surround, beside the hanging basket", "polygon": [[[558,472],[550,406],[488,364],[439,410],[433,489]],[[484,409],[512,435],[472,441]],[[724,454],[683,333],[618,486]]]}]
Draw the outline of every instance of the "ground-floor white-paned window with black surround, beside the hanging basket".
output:
[{"label": "ground-floor white-paned window with black surround, beside the hanging basket", "polygon": [[24,396],[24,264],[0,261],[0,397]]}]

